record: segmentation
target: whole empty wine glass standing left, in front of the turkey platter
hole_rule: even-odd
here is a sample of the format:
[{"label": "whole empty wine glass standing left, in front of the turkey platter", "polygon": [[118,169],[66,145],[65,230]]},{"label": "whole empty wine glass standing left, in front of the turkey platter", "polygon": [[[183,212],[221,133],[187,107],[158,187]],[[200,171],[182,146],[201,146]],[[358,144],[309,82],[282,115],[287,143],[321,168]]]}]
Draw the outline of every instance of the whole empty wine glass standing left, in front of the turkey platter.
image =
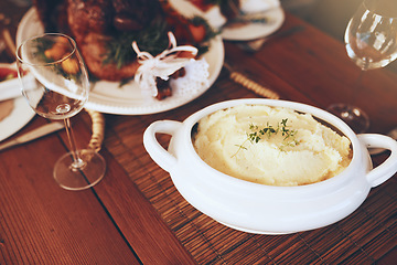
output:
[{"label": "whole empty wine glass standing left, in front of the turkey platter", "polygon": [[24,41],[17,50],[22,94],[42,117],[63,119],[71,151],[54,166],[54,178],[67,190],[84,190],[98,183],[106,170],[95,150],[77,150],[71,117],[88,100],[89,81],[75,41],[46,33]]}]

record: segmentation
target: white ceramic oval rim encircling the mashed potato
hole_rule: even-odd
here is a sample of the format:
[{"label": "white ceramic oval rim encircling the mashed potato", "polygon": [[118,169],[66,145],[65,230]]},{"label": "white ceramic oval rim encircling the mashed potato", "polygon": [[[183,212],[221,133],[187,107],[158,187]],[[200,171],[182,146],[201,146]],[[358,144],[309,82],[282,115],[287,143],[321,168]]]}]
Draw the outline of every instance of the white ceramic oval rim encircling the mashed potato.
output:
[{"label": "white ceramic oval rim encircling the mashed potato", "polygon": [[[321,120],[324,120],[324,121],[333,125],[335,128],[341,130],[341,132],[344,134],[351,140],[352,149],[353,149],[353,158],[352,158],[351,163],[343,172],[341,172],[340,174],[337,174],[333,178],[330,178],[330,179],[326,179],[326,180],[323,180],[323,181],[320,181],[316,183],[311,183],[311,184],[305,184],[305,186],[294,186],[294,187],[265,186],[265,184],[254,183],[250,181],[234,178],[228,174],[219,172],[218,170],[212,168],[206,162],[204,162],[201,159],[201,157],[197,155],[197,152],[195,151],[195,149],[193,147],[193,142],[191,139],[191,131],[193,129],[193,126],[201,118],[203,118],[216,110],[225,109],[225,108],[229,108],[229,107],[243,105],[243,104],[267,105],[267,106],[275,106],[275,107],[291,108],[291,109],[294,109],[298,112],[311,114],[311,115],[313,115],[313,117],[316,117]],[[301,194],[302,191],[318,192],[319,189],[324,189],[324,190],[334,189],[333,187],[339,187],[339,186],[343,184],[345,181],[348,181],[350,178],[354,177],[354,172],[352,172],[352,169],[355,163],[357,163],[362,160],[362,157],[363,157],[363,151],[361,150],[362,145],[361,145],[357,136],[343,120],[341,120],[336,116],[334,116],[321,108],[310,106],[307,104],[302,104],[302,103],[279,100],[279,99],[267,99],[267,98],[232,99],[232,100],[226,100],[226,102],[210,105],[210,106],[196,112],[195,114],[191,115],[190,117],[187,117],[183,121],[183,124],[184,124],[184,131],[181,135],[181,137],[183,137],[183,142],[189,142],[189,145],[186,146],[186,151],[189,153],[186,156],[192,156],[193,157],[192,161],[197,162],[197,166],[200,168],[203,168],[210,174],[216,176],[216,178],[218,178],[219,180],[226,181],[228,184],[233,183],[240,188],[246,187],[249,189],[259,189],[259,190],[272,189],[272,190],[279,191],[280,195],[283,195],[285,193],[288,193],[290,195],[294,194],[294,193]],[[310,193],[308,193],[308,198],[310,198]]]}]

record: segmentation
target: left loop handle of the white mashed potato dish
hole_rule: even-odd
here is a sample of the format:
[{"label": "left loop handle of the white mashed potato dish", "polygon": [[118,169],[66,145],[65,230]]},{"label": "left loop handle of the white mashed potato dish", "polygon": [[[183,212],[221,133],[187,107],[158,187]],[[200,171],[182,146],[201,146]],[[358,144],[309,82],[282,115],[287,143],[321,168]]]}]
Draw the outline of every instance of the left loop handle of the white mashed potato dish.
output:
[{"label": "left loop handle of the white mashed potato dish", "polygon": [[170,172],[176,165],[176,158],[168,152],[157,140],[155,134],[173,135],[182,126],[180,121],[158,120],[152,123],[143,132],[143,146],[153,161]]}]

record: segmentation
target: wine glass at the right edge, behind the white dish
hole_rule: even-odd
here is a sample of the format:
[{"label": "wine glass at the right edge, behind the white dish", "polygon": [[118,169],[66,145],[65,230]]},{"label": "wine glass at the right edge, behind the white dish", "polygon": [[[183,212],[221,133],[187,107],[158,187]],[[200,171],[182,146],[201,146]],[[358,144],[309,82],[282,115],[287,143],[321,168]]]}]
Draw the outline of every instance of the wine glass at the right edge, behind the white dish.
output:
[{"label": "wine glass at the right edge, behind the white dish", "polygon": [[[362,70],[360,86],[365,71],[384,67],[397,57],[397,1],[364,0],[347,24],[344,40],[348,57]],[[368,116],[356,106],[340,103],[328,110],[357,134],[369,127]]]}]

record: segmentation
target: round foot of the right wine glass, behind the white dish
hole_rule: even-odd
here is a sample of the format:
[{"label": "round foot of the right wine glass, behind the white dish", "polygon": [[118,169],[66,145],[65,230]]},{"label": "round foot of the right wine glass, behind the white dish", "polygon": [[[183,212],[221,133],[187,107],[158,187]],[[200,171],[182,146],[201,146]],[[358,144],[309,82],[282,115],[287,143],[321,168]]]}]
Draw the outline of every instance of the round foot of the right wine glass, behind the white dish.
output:
[{"label": "round foot of the right wine glass, behind the white dish", "polygon": [[366,132],[369,128],[369,118],[362,109],[346,104],[333,104],[328,112],[341,118],[356,134]]}]

